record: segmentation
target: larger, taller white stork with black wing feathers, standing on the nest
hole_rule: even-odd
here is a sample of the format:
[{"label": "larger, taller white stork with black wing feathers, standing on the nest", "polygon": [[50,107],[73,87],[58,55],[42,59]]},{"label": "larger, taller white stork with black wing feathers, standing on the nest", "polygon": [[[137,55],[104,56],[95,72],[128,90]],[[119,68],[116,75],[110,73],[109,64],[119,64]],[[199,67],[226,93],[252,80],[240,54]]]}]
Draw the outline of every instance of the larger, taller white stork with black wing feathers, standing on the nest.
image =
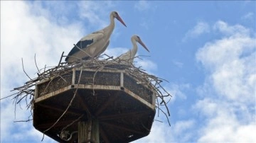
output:
[{"label": "larger, taller white stork with black wing feathers, standing on the nest", "polygon": [[117,18],[118,21],[127,27],[118,13],[116,11],[112,11],[110,13],[110,25],[102,30],[98,30],[94,33],[86,35],[84,38],[79,40],[76,46],[78,46],[81,50],[74,46],[73,49],[68,53],[68,57],[65,58],[65,61],[70,63],[78,61],[79,59],[86,60],[90,59],[91,57],[97,57],[104,52],[107,49],[107,46],[110,44],[110,35],[114,30],[114,18]]}]

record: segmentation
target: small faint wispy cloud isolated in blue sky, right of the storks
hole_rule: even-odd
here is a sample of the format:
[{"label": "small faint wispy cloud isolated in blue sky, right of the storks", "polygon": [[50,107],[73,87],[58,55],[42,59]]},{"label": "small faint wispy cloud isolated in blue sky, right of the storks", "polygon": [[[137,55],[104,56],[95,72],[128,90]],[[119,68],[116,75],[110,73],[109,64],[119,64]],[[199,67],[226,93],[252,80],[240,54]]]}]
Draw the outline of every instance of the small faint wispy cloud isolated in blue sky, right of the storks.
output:
[{"label": "small faint wispy cloud isolated in blue sky, right of the storks", "polygon": [[196,25],[191,30],[188,30],[182,41],[184,42],[190,38],[197,38],[198,36],[209,32],[210,26],[208,25],[208,23],[201,21],[196,23]]}]

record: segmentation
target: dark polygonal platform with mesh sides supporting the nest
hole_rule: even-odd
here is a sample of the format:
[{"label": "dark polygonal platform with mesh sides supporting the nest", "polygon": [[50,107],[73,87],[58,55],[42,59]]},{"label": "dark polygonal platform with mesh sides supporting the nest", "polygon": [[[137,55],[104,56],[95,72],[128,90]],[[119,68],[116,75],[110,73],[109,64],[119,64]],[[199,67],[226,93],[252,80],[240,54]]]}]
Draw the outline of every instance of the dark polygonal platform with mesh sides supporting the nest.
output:
[{"label": "dark polygonal platform with mesh sides supporting the nest", "polygon": [[[57,142],[63,127],[81,115],[99,121],[100,142],[132,142],[149,135],[155,115],[154,91],[125,70],[73,68],[60,76],[36,84],[33,125]],[[78,131],[78,122],[65,130]],[[78,142],[76,134],[68,142]]]}]

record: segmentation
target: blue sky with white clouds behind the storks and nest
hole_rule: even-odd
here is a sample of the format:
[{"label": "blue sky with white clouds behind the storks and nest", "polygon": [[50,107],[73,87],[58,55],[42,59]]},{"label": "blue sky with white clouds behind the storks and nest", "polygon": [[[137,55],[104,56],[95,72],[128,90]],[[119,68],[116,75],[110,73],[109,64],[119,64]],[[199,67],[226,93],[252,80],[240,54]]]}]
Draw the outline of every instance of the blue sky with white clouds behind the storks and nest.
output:
[{"label": "blue sky with white clouds behind the storks and nest", "polygon": [[[149,136],[135,142],[256,142],[255,1],[1,1],[1,98],[36,77],[36,66],[55,66],[82,36],[118,21],[108,55],[132,47],[151,74],[169,81],[171,127],[156,117]],[[1,100],[1,142],[41,142],[25,106]],[[43,142],[55,142],[45,137]]]}]

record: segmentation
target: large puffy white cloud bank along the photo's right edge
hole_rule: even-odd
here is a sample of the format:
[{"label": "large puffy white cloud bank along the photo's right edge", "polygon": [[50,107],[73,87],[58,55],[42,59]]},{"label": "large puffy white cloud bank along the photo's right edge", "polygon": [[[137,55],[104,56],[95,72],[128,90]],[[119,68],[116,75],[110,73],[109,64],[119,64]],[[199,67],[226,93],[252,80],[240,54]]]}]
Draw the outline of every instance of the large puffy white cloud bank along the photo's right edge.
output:
[{"label": "large puffy white cloud bank along the photo's right edge", "polygon": [[198,88],[203,97],[193,109],[203,118],[198,142],[256,142],[256,38],[242,25],[217,21],[224,36],[196,53],[207,71]]}]

